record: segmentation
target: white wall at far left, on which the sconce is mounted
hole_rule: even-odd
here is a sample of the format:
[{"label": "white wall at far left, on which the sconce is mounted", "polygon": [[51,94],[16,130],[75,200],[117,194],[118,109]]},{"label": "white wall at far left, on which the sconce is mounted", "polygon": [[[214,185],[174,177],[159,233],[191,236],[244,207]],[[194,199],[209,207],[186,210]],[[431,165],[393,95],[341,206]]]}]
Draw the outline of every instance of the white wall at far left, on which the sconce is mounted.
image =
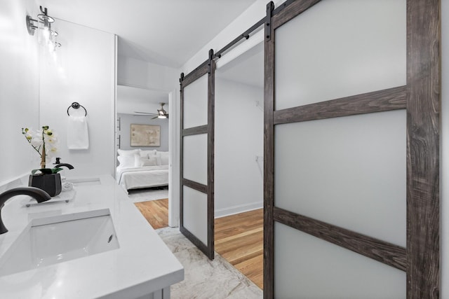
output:
[{"label": "white wall at far left, on which the sconce is mounted", "polygon": [[0,9],[0,185],[39,167],[39,155],[22,127],[39,125],[39,45],[25,27],[36,18],[33,0],[8,0]]}]

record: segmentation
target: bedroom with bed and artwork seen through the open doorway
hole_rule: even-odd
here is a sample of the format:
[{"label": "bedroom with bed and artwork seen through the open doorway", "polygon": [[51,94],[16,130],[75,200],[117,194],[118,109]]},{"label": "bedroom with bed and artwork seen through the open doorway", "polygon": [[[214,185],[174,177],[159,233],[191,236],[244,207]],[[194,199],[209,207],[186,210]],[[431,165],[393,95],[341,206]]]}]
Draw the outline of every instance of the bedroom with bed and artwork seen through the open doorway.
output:
[{"label": "bedroom with bed and artwork seen through the open doorway", "polygon": [[117,86],[116,181],[153,228],[168,226],[169,92]]}]

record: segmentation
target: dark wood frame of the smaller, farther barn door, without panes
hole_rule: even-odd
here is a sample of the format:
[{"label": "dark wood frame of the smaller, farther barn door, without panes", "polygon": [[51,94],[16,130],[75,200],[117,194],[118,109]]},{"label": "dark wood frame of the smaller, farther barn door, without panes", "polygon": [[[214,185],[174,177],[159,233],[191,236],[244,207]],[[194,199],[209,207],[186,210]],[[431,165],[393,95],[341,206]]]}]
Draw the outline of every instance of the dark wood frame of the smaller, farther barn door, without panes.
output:
[{"label": "dark wood frame of the smaller, farther barn door, without panes", "polygon": [[[208,74],[208,123],[198,127],[184,129],[184,88],[202,76]],[[197,246],[206,256],[214,258],[214,123],[215,123],[215,61],[213,60],[213,50],[209,51],[209,59],[201,64],[194,71],[180,78],[180,232],[185,235],[195,246]],[[184,178],[184,137],[208,134],[208,183],[204,185]],[[183,186],[207,195],[207,244],[201,242],[192,232],[184,226],[184,192]]]}]

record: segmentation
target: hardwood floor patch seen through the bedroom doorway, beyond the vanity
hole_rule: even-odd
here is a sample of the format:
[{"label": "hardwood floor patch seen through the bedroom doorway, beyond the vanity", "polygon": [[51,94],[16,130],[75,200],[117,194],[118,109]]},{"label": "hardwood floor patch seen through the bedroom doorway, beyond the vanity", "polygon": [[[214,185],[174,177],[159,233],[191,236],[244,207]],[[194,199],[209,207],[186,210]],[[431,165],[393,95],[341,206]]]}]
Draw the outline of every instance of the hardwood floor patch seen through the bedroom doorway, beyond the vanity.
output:
[{"label": "hardwood floor patch seen through the bedroom doorway, beyond the vanity", "polygon": [[168,198],[135,202],[135,206],[155,230],[168,226]]}]

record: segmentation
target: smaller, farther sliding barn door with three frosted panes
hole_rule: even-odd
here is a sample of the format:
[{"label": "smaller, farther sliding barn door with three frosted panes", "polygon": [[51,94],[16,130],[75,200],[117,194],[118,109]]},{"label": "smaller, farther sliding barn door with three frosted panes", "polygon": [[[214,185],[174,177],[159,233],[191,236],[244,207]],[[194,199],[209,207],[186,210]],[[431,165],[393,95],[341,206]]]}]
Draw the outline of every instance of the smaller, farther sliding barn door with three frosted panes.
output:
[{"label": "smaller, farther sliding barn door with three frosted panes", "polygon": [[214,256],[214,69],[211,59],[181,75],[180,231]]}]

